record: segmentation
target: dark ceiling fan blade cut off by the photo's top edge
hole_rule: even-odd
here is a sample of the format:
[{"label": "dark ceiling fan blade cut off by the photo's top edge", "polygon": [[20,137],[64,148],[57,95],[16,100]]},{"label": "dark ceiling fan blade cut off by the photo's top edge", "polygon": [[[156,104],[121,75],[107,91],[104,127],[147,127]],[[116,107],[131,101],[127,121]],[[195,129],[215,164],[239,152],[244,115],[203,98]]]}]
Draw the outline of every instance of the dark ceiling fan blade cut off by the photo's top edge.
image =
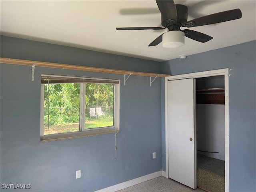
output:
[{"label": "dark ceiling fan blade cut off by the photo's top edge", "polygon": [[156,4],[164,17],[166,19],[172,19],[177,21],[177,10],[174,1],[171,0],[156,0]]}]

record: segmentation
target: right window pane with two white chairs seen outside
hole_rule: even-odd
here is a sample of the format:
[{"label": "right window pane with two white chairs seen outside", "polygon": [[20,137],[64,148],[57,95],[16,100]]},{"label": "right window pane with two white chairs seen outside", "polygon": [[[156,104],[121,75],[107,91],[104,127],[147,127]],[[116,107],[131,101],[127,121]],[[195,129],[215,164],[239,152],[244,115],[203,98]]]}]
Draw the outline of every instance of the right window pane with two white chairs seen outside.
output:
[{"label": "right window pane with two white chairs seen outside", "polygon": [[85,128],[114,126],[114,85],[86,83]]}]

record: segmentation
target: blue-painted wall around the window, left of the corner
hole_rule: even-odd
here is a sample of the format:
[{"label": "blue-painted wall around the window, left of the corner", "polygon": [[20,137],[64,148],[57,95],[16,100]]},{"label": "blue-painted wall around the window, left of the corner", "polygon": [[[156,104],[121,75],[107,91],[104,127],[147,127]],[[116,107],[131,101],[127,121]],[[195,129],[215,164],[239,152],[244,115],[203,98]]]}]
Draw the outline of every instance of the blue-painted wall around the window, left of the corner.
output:
[{"label": "blue-painted wall around the window, left of the corner", "polygon": [[[158,62],[1,36],[1,57],[161,72]],[[120,133],[40,142],[40,75],[119,78]],[[95,191],[162,168],[161,79],[1,64],[1,185],[31,191]],[[152,159],[156,152],[156,159]],[[75,178],[81,170],[81,179]],[[4,190],[3,190],[4,191]],[[8,190],[7,190],[8,191]],[[9,190],[10,191],[10,190]],[[19,190],[15,190],[19,191]]]}]

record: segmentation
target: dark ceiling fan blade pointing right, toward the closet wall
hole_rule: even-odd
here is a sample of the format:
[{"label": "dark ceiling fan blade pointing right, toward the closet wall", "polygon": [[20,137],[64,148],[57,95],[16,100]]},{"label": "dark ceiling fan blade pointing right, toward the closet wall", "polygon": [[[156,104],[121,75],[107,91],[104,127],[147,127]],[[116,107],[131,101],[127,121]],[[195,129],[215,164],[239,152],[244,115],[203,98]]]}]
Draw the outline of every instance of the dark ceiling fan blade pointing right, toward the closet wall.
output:
[{"label": "dark ceiling fan blade pointing right, toward the closet wall", "polygon": [[240,19],[242,17],[242,12],[240,9],[233,9],[229,11],[219,12],[200,18],[196,18],[182,24],[182,27],[196,27],[202,25],[209,25],[215,23],[221,23],[226,21],[231,21],[235,19]]}]

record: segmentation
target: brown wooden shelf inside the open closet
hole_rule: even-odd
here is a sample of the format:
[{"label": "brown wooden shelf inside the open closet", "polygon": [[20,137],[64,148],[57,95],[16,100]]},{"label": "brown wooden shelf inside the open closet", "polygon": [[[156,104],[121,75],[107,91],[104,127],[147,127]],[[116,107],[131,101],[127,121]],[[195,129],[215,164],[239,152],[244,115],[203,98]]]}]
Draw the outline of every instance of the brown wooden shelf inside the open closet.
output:
[{"label": "brown wooden shelf inside the open closet", "polygon": [[209,88],[196,90],[197,104],[225,104],[224,88]]}]

